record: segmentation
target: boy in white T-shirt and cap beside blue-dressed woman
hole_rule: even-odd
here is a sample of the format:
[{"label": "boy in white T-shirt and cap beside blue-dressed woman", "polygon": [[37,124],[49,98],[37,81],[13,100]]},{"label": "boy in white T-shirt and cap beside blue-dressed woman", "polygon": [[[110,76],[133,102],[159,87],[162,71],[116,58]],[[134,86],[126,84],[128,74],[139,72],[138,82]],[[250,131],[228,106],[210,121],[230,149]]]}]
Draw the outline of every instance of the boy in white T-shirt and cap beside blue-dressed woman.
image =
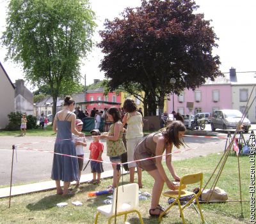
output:
[{"label": "boy in white T-shirt and cap beside blue-dressed woman", "polygon": [[[76,130],[81,132],[83,129],[83,121],[80,119],[76,119]],[[86,147],[86,139],[85,137],[78,137],[77,135],[72,134],[72,138],[75,142],[76,146],[76,156],[78,160],[78,167],[79,167],[79,180],[76,182],[76,188],[79,187],[80,184],[80,178],[81,178],[81,172],[84,165],[84,147]]]}]

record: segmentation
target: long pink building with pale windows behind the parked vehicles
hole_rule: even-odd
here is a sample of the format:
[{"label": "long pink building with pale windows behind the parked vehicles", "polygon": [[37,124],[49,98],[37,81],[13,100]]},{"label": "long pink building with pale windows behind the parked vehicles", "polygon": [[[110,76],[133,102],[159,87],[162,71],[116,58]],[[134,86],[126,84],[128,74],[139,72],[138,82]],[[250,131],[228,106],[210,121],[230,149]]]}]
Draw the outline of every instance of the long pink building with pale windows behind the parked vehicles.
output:
[{"label": "long pink building with pale windows behind the parked vehicles", "polygon": [[179,96],[170,94],[167,101],[167,112],[170,114],[175,110],[180,114],[188,114],[187,102],[194,103],[193,114],[212,113],[216,109],[232,109],[232,88],[229,74],[225,77],[217,77],[214,82],[207,80],[195,91],[185,89]]}]

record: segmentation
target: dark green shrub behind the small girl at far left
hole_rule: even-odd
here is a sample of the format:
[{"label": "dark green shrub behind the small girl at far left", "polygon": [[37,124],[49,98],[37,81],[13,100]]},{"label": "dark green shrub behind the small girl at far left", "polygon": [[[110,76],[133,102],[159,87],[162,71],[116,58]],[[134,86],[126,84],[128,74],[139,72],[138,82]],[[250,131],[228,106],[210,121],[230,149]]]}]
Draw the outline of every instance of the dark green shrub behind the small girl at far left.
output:
[{"label": "dark green shrub behind the small girl at far left", "polygon": [[[21,112],[10,112],[8,114],[9,118],[9,124],[6,126],[6,130],[19,130],[20,129],[20,123],[21,123]],[[27,129],[32,128],[38,128],[38,125],[36,125],[36,117],[32,115],[26,116],[28,123],[27,123]]]}]

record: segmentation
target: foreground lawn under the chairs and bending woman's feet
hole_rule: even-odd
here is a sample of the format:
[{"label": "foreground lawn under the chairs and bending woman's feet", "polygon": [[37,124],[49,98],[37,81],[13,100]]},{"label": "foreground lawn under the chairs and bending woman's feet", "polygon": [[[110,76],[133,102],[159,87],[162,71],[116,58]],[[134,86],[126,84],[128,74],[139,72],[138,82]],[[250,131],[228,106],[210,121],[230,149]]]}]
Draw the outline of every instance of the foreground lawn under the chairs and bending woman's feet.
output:
[{"label": "foreground lawn under the chairs and bending woman's feet", "polygon": [[[205,157],[175,161],[173,165],[180,176],[193,172],[204,172],[204,183],[206,183],[216,167],[216,164],[220,161],[220,157],[221,155],[212,154]],[[250,163],[248,157],[241,157],[240,165],[242,197],[243,200],[249,200],[248,186],[250,181]],[[124,183],[128,183],[128,179],[129,175],[124,175]],[[0,200],[0,223],[94,223],[97,207],[104,205],[102,201],[106,199],[106,195],[90,198],[87,197],[86,193],[93,190],[103,190],[106,186],[111,184],[111,181],[111,179],[105,179],[99,186],[82,184],[82,188],[73,197],[55,195],[55,191],[45,191],[13,197],[10,209],[8,209],[8,198],[3,198]],[[143,188],[142,191],[151,193],[153,179],[147,172],[143,172],[143,184],[145,188]],[[239,179],[236,156],[228,157],[228,161],[217,186],[228,193],[228,200],[239,199]],[[194,186],[191,187],[193,188]],[[164,186],[164,190],[167,190],[166,186]],[[166,197],[161,197],[160,204],[163,207],[168,205],[167,199]],[[79,207],[72,205],[71,202],[76,200],[82,202],[83,205]],[[56,207],[56,204],[60,202],[68,202],[68,205],[66,207]],[[249,223],[249,202],[243,203],[244,218],[241,217],[241,204],[239,202],[202,204],[201,206],[207,223]],[[143,216],[143,221],[146,224],[157,223],[157,219],[148,216],[149,207],[150,200],[140,201],[140,212]],[[184,216],[187,223],[200,223],[200,216],[193,208],[185,209]],[[139,223],[135,214],[130,214],[127,221],[129,221],[129,223]],[[106,223],[106,219],[100,216],[99,223]],[[179,218],[177,206],[163,219],[162,223],[182,223]]]}]

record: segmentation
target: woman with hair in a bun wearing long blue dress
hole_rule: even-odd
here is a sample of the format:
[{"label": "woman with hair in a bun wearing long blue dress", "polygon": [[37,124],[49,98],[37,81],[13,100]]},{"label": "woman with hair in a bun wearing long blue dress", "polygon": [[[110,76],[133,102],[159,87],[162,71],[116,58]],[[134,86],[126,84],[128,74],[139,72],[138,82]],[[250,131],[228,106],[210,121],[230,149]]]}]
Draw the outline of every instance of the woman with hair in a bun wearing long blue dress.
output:
[{"label": "woman with hair in a bun wearing long blue dress", "polygon": [[[75,101],[70,96],[66,96],[64,106],[63,110],[56,113],[52,126],[52,130],[57,133],[57,138],[54,145],[51,179],[56,182],[56,193],[58,195],[68,195],[70,182],[79,179],[77,158],[63,156],[62,154],[76,156],[72,133],[79,137],[84,137],[84,133],[76,130],[76,114],[72,112],[75,107]],[[60,181],[64,182],[63,190],[61,189]]]}]

